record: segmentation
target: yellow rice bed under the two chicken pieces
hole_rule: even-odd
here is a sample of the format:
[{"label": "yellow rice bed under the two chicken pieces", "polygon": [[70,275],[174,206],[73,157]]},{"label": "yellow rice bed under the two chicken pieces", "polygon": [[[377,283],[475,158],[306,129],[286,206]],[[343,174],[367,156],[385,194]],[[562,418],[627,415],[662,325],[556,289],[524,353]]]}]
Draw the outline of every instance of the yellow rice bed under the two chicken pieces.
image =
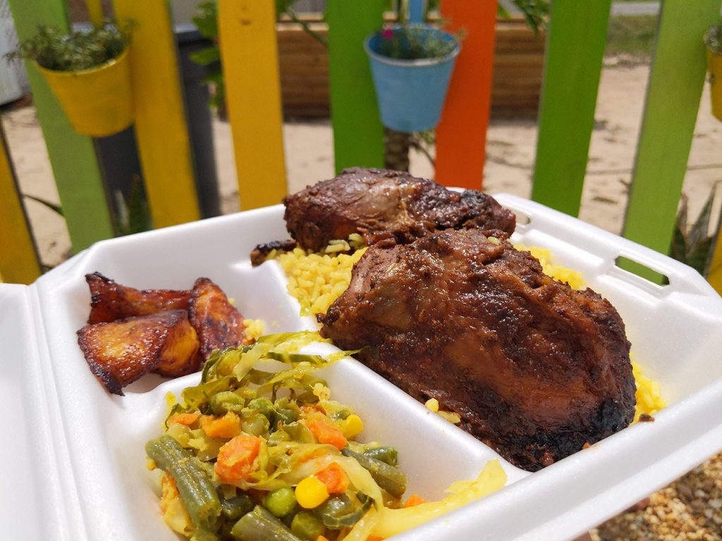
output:
[{"label": "yellow rice bed under the two chicken pieces", "polygon": [[[352,245],[357,239],[352,239]],[[352,246],[351,245],[351,246]],[[517,250],[528,250],[541,263],[544,274],[566,282],[574,289],[585,286],[584,278],[578,271],[562,267],[552,261],[552,252],[536,246],[516,245]],[[301,305],[302,315],[325,314],[331,304],[346,291],[351,281],[351,271],[361,258],[365,248],[356,250],[351,255],[337,253],[349,250],[346,241],[331,241],[331,245],[322,252],[312,252],[295,248],[292,252],[271,252],[269,258],[276,258],[288,278],[287,289]],[[661,397],[659,383],[646,377],[640,366],[632,362],[632,373],[637,384],[637,403],[635,419],[640,415],[654,415],[666,405]]]}]

